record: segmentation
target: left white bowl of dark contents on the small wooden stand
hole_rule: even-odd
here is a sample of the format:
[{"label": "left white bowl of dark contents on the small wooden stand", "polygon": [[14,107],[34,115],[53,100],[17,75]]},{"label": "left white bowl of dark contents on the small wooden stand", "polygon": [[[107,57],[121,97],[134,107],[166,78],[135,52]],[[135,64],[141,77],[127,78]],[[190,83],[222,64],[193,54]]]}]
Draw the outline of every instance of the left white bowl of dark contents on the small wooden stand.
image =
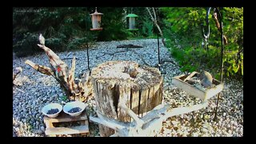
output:
[{"label": "left white bowl of dark contents on the small wooden stand", "polygon": [[42,107],[42,114],[49,118],[55,118],[62,111],[62,105],[58,103],[50,103]]}]

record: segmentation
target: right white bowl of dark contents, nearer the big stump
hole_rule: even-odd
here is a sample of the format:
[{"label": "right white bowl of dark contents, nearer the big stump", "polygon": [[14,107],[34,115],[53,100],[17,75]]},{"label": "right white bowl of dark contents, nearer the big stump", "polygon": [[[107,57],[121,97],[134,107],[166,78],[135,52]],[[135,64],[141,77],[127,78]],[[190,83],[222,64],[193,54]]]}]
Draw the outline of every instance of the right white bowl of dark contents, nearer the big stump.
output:
[{"label": "right white bowl of dark contents, nearer the big stump", "polygon": [[70,114],[70,116],[78,116],[82,114],[82,111],[86,109],[86,104],[84,102],[68,102],[65,106],[63,106],[63,111],[66,114]]}]

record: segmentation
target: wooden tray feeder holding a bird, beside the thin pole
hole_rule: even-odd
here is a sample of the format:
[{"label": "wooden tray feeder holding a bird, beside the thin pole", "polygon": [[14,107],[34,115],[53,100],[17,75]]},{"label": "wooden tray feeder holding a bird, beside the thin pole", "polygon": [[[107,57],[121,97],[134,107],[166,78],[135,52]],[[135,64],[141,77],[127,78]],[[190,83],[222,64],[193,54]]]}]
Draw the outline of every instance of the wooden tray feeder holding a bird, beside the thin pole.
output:
[{"label": "wooden tray feeder holding a bird, beside the thin pole", "polygon": [[198,79],[199,73],[194,71],[191,74],[182,74],[173,77],[172,83],[174,86],[186,91],[186,93],[202,99],[202,101],[212,98],[223,90],[223,82],[219,82],[217,79],[213,79],[213,86],[210,88],[202,87]]}]

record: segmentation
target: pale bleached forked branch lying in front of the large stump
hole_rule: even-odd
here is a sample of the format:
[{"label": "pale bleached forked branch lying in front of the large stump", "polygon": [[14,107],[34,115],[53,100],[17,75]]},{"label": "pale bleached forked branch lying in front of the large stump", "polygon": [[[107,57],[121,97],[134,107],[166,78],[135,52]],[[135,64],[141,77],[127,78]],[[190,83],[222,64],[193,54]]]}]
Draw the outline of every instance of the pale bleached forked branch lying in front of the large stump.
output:
[{"label": "pale bleached forked branch lying in front of the large stump", "polygon": [[134,114],[134,112],[130,110],[124,102],[120,102],[119,106],[134,119],[133,122],[119,122],[115,119],[106,118],[106,116],[100,114],[98,111],[98,118],[90,116],[90,120],[116,130],[116,133],[111,135],[111,137],[154,136],[158,129],[156,126],[162,126],[162,121],[166,120],[166,118],[170,118],[174,115],[190,113],[194,110],[200,110],[207,105],[208,102],[202,102],[201,104],[194,106],[170,109],[170,104],[165,106],[161,104],[154,107],[153,110],[150,110],[150,112],[142,118],[138,118],[138,115]]}]

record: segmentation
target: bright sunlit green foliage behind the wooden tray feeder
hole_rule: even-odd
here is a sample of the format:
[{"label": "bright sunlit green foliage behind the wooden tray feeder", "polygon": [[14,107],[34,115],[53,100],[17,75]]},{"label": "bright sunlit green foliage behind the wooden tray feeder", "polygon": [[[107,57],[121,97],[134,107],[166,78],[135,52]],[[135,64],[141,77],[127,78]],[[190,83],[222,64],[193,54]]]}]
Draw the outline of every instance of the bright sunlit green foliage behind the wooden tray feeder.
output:
[{"label": "bright sunlit green foliage behind the wooden tray feeder", "polygon": [[[206,9],[197,7],[188,8],[161,8],[166,15],[164,35],[167,46],[174,58],[182,66],[183,71],[211,69],[220,75],[221,68],[221,34],[215,26],[210,11],[210,38],[209,50],[202,48],[201,25],[206,26]],[[243,8],[224,8],[223,31],[228,44],[224,46],[224,74],[242,78],[243,75]],[[206,29],[206,28],[205,28]],[[238,53],[240,51],[241,53]]]}]

